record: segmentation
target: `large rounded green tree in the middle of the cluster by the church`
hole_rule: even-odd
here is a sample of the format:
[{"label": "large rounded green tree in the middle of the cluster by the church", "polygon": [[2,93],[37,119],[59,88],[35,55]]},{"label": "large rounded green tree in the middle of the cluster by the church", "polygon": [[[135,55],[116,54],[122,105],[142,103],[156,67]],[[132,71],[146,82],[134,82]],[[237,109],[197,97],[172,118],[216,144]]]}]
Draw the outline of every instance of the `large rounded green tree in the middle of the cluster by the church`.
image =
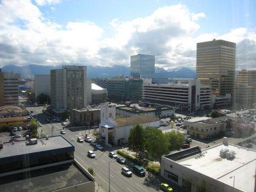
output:
[{"label": "large rounded green tree in the middle of the cluster by the church", "polygon": [[168,140],[166,136],[164,136],[163,132],[159,129],[148,127],[147,131],[146,146],[148,150],[148,156],[154,159],[158,159],[161,163],[161,157],[169,152]]}]

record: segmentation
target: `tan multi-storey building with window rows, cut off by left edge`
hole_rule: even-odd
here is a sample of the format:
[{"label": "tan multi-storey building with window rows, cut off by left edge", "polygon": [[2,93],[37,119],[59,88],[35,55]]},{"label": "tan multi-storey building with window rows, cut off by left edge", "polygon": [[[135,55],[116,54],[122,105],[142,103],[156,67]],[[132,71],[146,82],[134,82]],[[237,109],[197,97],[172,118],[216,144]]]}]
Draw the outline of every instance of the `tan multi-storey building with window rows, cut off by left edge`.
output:
[{"label": "tan multi-storey building with window rows, cut off by left edge", "polygon": [[19,106],[20,74],[0,71],[0,106]]}]

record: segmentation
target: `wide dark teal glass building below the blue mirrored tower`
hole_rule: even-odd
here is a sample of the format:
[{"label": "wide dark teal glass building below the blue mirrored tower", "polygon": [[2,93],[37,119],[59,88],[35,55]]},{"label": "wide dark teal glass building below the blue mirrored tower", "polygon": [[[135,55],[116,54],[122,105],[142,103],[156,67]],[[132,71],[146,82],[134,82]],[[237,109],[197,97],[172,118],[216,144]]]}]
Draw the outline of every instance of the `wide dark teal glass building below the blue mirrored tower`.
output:
[{"label": "wide dark teal glass building below the blue mirrored tower", "polygon": [[141,99],[142,79],[109,78],[108,99],[113,101],[138,101]]}]

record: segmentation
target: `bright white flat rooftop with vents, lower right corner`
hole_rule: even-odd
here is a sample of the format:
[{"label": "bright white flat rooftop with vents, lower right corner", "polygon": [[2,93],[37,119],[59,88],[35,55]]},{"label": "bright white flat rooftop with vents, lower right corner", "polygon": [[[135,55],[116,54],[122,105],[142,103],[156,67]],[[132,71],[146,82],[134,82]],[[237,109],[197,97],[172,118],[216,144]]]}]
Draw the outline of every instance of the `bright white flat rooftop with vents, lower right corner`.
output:
[{"label": "bright white flat rooftop with vents, lower right corner", "polygon": [[[234,150],[235,156],[231,159],[220,157],[220,150],[227,148]],[[238,145],[216,145],[202,150],[202,153],[186,157],[176,161],[196,172],[203,173],[214,179],[221,180],[233,186],[235,176],[235,187],[244,191],[253,191],[255,184],[256,151]]]}]

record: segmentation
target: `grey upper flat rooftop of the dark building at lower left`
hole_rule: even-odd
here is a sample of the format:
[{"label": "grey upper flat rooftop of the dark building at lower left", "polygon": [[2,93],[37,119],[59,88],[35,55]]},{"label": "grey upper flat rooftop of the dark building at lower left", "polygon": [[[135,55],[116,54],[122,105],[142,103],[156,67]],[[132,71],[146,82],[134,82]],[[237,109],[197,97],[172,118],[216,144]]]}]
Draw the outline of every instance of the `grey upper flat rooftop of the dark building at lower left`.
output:
[{"label": "grey upper flat rooftop of the dark building at lower left", "polygon": [[70,150],[74,150],[74,145],[60,135],[49,137],[49,140],[39,138],[37,139],[36,145],[27,144],[28,141],[26,140],[15,141],[14,144],[12,142],[4,143],[3,148],[0,149],[0,163],[3,159],[13,159],[13,156],[22,156],[24,154],[49,154],[60,148],[70,148]]}]

